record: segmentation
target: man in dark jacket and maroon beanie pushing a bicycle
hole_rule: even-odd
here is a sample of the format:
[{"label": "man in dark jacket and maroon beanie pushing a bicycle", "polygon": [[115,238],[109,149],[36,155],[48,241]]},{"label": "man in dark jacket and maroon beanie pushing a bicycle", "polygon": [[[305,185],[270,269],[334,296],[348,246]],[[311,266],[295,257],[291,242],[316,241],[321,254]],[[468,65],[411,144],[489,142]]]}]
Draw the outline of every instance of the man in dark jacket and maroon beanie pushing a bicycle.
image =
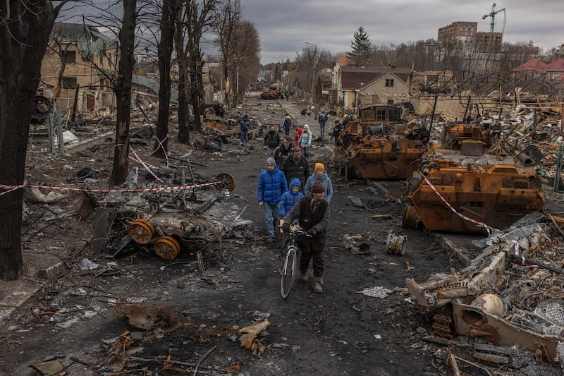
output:
[{"label": "man in dark jacket and maroon beanie pushing a bicycle", "polygon": [[298,219],[300,227],[309,236],[298,236],[296,243],[302,255],[300,257],[300,281],[307,282],[307,268],[309,259],[313,258],[313,291],[323,292],[324,260],[323,250],[327,241],[326,229],[329,225],[329,202],[325,200],[325,187],[320,181],[315,181],[311,194],[300,198],[294,207],[284,217],[282,231],[288,233],[290,224]]}]

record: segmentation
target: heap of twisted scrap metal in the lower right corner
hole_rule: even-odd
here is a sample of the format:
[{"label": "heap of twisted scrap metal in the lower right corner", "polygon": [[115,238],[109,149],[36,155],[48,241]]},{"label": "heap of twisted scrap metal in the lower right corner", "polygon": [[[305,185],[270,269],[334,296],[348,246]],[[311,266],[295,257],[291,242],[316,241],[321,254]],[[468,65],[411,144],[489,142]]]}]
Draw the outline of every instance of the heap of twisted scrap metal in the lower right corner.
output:
[{"label": "heap of twisted scrap metal in the lower right corner", "polygon": [[[529,214],[498,232],[458,272],[436,274],[423,284],[406,279],[417,304],[427,310],[447,308],[434,317],[436,335],[448,336],[452,328],[456,334],[522,346],[538,360],[561,363],[557,346],[564,341],[564,247],[551,241],[553,224],[541,222],[543,218]],[[503,354],[484,351],[477,351],[477,358],[505,362]]]}]

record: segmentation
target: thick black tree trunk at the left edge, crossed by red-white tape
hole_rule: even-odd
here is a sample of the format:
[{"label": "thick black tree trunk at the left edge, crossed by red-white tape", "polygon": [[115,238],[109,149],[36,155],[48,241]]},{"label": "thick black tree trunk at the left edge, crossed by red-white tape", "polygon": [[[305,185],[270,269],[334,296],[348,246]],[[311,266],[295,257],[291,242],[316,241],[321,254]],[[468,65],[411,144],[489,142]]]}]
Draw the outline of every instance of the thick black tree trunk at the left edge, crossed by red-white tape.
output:
[{"label": "thick black tree trunk at the left edge, crossed by red-white tape", "polygon": [[[0,3],[0,185],[24,181],[31,109],[57,13],[49,1]],[[23,189],[7,190],[0,188],[0,279],[12,280],[23,274]]]}]

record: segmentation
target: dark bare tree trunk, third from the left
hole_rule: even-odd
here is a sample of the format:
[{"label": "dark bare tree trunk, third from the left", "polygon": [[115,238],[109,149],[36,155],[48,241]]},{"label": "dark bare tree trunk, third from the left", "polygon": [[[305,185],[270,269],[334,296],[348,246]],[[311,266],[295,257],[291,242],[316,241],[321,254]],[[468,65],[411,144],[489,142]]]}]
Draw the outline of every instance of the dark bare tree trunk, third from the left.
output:
[{"label": "dark bare tree trunk, third from the left", "polygon": [[165,158],[168,152],[168,111],[171,104],[171,54],[174,39],[174,20],[180,9],[180,0],[164,0],[161,15],[161,39],[157,46],[159,56],[159,116],[157,140],[153,147],[155,157]]}]

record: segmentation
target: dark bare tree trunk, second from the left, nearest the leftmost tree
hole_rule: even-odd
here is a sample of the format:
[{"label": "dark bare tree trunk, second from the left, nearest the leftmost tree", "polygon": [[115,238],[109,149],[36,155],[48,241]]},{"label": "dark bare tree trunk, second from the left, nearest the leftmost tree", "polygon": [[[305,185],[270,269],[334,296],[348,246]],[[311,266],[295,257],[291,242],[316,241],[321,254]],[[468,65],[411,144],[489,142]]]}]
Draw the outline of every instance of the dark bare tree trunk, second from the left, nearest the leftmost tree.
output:
[{"label": "dark bare tree trunk, second from the left, nearest the leftmost tree", "polygon": [[116,93],[116,142],[114,166],[109,183],[116,186],[125,182],[129,165],[129,125],[131,117],[131,78],[133,75],[133,50],[135,48],[135,23],[137,0],[123,1],[123,21],[119,33],[119,71],[114,92]]}]

